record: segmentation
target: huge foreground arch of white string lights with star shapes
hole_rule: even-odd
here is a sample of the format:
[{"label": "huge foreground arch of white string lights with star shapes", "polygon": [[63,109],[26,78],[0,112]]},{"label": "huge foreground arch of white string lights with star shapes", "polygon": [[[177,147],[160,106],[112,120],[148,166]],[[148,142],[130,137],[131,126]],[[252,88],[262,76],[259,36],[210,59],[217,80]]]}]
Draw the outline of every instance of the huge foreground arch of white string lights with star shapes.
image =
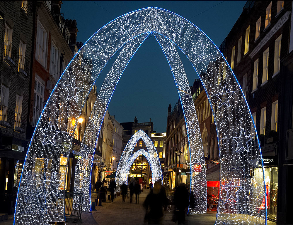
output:
[{"label": "huge foreground arch of white string lights with star shapes", "polygon": [[[97,98],[100,102],[95,110],[100,115],[93,117],[91,114],[91,122],[87,124],[80,152],[80,174],[77,174],[86,173],[85,177],[90,171],[86,167],[90,168],[93,162],[90,152],[94,153],[100,124],[118,77],[148,35],[155,35],[166,55],[183,106],[190,149],[190,197],[194,199],[188,214],[206,212],[205,162],[188,81],[175,46],[199,75],[214,115],[221,167],[216,224],[266,223],[260,145],[251,112],[234,73],[217,46],[199,28],[177,14],[152,7],[125,14],[103,26],[67,66],[47,100],[28,147],[18,187],[15,224],[48,224],[65,219],[66,174],[61,164],[63,166],[67,158],[68,165],[73,134],[86,98],[106,63],[121,48],[125,49],[122,51],[127,57],[120,58],[122,66],[112,67],[112,75],[105,79]],[[106,89],[110,94],[104,96],[102,93],[106,93]],[[94,127],[93,131],[90,126]],[[85,188],[83,193],[89,192],[90,179],[85,181],[75,182],[75,190]]]}]

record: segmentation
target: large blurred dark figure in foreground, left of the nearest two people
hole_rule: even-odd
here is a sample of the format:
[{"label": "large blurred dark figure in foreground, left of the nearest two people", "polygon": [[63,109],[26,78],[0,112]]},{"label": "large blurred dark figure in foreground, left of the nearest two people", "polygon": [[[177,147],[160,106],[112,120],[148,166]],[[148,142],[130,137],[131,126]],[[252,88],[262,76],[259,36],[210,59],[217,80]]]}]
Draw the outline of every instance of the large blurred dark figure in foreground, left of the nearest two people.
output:
[{"label": "large blurred dark figure in foreground, left of the nearest two people", "polygon": [[168,200],[161,188],[161,183],[155,182],[144,201],[143,206],[147,211],[144,219],[148,221],[148,224],[162,224],[163,222],[163,206],[167,204]]}]

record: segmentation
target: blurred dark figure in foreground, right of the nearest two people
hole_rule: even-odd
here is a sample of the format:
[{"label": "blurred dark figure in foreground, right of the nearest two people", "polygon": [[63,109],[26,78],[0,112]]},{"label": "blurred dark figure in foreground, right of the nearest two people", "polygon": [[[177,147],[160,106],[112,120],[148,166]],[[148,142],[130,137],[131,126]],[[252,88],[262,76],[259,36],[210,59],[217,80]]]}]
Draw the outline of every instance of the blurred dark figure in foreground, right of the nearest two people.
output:
[{"label": "blurred dark figure in foreground, right of the nearest two people", "polygon": [[[185,222],[185,207],[189,205],[189,194],[184,183],[179,184],[174,192],[174,205],[176,211],[174,211],[175,221],[178,220],[178,224],[184,224]],[[175,222],[174,221],[174,222]]]}]

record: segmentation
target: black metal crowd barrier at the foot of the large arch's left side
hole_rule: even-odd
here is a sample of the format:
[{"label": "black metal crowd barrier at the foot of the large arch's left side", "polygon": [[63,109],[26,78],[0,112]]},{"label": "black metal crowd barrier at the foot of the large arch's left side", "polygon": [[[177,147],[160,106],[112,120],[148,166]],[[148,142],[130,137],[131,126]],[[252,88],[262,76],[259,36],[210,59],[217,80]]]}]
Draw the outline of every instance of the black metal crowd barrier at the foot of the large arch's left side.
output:
[{"label": "black metal crowd barrier at the foot of the large arch's left side", "polygon": [[65,192],[64,211],[66,220],[81,219],[82,202],[84,195],[81,193]]}]

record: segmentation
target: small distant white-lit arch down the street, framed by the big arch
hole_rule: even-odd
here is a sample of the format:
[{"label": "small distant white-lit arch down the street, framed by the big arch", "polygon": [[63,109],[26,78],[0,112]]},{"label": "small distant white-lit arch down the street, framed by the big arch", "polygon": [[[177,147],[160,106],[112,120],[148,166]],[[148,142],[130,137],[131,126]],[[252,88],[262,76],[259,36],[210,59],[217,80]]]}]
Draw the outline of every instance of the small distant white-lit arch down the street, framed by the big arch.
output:
[{"label": "small distant white-lit arch down the street, framed by the big arch", "polygon": [[[139,139],[142,139],[144,141],[148,152],[146,152],[143,149],[140,149],[132,154],[133,149],[139,141]],[[120,191],[120,185],[123,184],[123,182],[127,184],[127,177],[130,167],[134,160],[141,154],[143,154],[149,162],[153,177],[153,183],[158,181],[159,179],[163,180],[160,159],[156,151],[156,148],[151,139],[149,138],[149,136],[147,136],[147,134],[142,130],[139,130],[127,142],[127,145],[120,158],[115,177],[115,181],[117,183],[117,191]]]}]

